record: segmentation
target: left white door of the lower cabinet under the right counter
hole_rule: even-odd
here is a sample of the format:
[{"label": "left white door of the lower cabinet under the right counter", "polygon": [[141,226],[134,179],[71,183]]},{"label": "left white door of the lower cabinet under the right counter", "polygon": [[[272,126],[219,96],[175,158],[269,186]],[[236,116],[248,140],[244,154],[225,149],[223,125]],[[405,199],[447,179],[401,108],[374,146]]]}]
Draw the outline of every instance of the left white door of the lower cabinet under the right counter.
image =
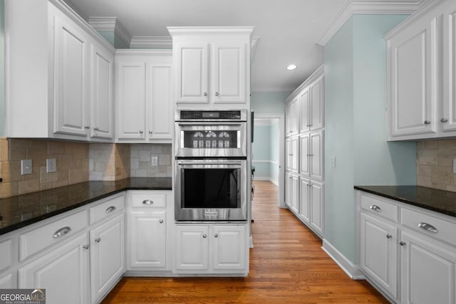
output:
[{"label": "left white door of the lower cabinet under the right counter", "polygon": [[398,229],[361,213],[361,269],[394,298],[398,296]]}]

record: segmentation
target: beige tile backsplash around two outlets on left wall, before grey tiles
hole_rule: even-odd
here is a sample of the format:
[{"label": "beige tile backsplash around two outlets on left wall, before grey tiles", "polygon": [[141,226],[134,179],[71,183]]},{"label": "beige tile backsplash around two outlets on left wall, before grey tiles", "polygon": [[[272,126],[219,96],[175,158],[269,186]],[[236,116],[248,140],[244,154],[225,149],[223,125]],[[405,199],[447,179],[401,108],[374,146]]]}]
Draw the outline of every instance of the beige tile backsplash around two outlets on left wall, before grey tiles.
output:
[{"label": "beige tile backsplash around two outlets on left wall, before grey tiles", "polygon": [[[0,137],[0,198],[88,181],[88,144]],[[46,159],[57,171],[46,173]],[[21,175],[21,159],[32,160],[32,173]]]}]

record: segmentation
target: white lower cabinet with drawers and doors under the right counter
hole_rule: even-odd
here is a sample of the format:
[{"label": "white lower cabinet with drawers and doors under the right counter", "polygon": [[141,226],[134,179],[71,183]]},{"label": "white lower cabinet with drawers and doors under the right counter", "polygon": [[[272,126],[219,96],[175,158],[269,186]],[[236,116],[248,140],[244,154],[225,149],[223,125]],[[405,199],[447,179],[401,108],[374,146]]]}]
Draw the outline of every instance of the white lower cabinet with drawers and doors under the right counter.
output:
[{"label": "white lower cabinet with drawers and doors under the right counter", "polygon": [[456,219],[358,192],[360,268],[390,301],[456,303]]}]

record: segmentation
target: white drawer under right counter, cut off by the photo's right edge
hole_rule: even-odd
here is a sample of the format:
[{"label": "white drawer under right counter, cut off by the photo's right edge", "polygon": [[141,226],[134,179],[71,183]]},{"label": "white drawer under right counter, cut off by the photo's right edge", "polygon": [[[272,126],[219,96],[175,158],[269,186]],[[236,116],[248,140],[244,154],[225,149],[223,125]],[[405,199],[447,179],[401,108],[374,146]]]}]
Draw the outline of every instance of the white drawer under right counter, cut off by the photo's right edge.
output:
[{"label": "white drawer under right counter, cut off by the photo's right edge", "polygon": [[436,216],[410,209],[402,209],[402,224],[432,239],[440,239],[456,246],[456,224]]}]

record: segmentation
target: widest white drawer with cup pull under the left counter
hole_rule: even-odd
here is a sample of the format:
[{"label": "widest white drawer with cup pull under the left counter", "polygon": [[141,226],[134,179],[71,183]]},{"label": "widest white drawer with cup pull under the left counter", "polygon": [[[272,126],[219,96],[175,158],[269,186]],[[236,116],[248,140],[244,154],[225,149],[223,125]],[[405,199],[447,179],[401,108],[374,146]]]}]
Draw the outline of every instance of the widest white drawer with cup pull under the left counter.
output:
[{"label": "widest white drawer with cup pull under the left counter", "polygon": [[58,221],[38,227],[19,236],[19,261],[76,235],[88,226],[87,211],[79,211]]}]

